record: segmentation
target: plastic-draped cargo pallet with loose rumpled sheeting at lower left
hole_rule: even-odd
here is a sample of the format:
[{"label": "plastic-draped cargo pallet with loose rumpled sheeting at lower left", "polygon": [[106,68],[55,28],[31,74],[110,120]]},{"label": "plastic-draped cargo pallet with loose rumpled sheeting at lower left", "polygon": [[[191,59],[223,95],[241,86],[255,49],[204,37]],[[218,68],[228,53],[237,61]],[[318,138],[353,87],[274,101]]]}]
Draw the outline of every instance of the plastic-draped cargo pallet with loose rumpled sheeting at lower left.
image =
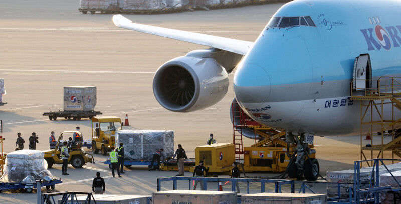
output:
[{"label": "plastic-draped cargo pallet with loose rumpled sheeting at lower left", "polygon": [[7,154],[0,183],[35,183],[56,178],[47,170],[45,153],[38,150],[19,150]]}]

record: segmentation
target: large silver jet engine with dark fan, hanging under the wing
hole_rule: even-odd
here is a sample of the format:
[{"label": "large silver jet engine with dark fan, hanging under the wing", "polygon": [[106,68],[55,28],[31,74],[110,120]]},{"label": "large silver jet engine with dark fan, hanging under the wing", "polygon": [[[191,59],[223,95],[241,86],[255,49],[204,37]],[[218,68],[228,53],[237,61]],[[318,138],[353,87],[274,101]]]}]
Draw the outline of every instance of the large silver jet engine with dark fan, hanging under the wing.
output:
[{"label": "large silver jet engine with dark fan, hanging under the wing", "polygon": [[219,102],[227,93],[227,71],[210,50],[195,50],[163,64],[154,75],[153,93],[164,108],[192,112]]}]

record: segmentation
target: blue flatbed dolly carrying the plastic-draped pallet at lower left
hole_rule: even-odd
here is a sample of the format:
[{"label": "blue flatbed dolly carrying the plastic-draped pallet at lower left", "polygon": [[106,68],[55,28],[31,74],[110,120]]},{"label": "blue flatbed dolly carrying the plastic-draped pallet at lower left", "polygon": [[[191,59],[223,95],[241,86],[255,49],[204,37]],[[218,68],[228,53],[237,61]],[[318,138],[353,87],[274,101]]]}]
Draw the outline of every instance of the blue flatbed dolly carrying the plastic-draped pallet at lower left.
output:
[{"label": "blue flatbed dolly carrying the plastic-draped pallet at lower left", "polygon": [[[41,187],[46,187],[46,189],[52,188],[52,190],[54,190],[56,188],[56,184],[60,184],[62,182],[63,181],[60,179],[45,181],[41,183]],[[20,190],[31,193],[36,187],[36,183],[0,183],[0,192],[3,190]]]}]

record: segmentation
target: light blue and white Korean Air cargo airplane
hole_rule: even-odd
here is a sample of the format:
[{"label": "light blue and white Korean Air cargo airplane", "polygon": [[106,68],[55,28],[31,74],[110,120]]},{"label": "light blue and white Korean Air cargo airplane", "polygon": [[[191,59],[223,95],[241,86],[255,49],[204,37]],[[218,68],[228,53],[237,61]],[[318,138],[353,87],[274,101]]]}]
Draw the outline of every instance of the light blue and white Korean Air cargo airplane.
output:
[{"label": "light blue and white Korean Air cargo airplane", "polygon": [[[359,134],[360,100],[351,100],[351,93],[375,88],[371,79],[401,76],[400,10],[399,0],[295,0],[273,15],[255,42],[136,24],[121,15],[113,21],[210,47],[159,67],[153,92],[168,110],[214,105],[227,93],[228,73],[237,67],[233,101],[260,124],[286,131],[286,140],[297,143],[293,177],[314,180],[319,164],[305,161],[312,150],[304,143],[312,143],[314,135]],[[389,115],[390,108],[384,110]]]}]

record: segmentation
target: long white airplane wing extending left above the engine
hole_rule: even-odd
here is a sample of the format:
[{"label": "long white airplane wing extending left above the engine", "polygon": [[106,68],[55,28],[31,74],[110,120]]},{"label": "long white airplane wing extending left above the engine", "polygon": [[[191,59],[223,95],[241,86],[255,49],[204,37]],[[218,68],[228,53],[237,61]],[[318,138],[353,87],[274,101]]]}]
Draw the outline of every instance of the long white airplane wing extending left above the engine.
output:
[{"label": "long white airplane wing extending left above the engine", "polygon": [[122,15],[114,15],[113,22],[117,27],[153,34],[157,36],[167,37],[171,39],[177,39],[180,41],[191,42],[194,44],[210,46],[213,48],[241,55],[245,55],[251,48],[251,46],[254,44],[253,42],[248,42],[243,40],[137,24],[133,23],[131,20],[123,17]]}]

